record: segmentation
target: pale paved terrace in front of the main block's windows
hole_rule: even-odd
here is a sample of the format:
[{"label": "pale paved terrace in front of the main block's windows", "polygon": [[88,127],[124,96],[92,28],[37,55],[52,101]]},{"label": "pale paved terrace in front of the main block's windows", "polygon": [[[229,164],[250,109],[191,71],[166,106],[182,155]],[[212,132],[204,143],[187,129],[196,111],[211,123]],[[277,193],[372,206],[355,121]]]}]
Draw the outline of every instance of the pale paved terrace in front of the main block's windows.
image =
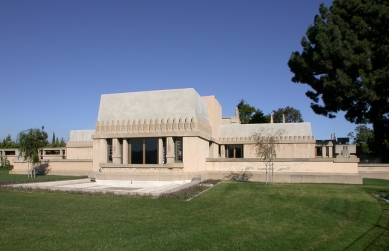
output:
[{"label": "pale paved terrace in front of the main block's windows", "polygon": [[162,193],[171,193],[183,188],[198,184],[200,181],[181,181],[181,182],[134,182],[127,186],[115,186],[114,182],[110,184],[99,184],[90,179],[51,181],[39,183],[23,183],[10,185],[12,187],[31,187],[59,191],[82,191],[82,192],[112,192],[114,194],[139,194],[159,196]]}]

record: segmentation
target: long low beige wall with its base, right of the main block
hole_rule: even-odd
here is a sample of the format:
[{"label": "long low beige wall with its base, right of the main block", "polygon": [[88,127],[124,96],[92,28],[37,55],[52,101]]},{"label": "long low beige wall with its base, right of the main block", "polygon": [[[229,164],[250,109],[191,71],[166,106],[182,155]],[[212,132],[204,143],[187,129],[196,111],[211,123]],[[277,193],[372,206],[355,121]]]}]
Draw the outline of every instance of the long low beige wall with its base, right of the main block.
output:
[{"label": "long low beige wall with its base, right of the main block", "polygon": [[[275,159],[274,181],[279,183],[362,184],[357,158]],[[251,181],[266,181],[266,165],[253,159],[207,159],[202,179],[223,179],[231,172],[248,171]]]}]

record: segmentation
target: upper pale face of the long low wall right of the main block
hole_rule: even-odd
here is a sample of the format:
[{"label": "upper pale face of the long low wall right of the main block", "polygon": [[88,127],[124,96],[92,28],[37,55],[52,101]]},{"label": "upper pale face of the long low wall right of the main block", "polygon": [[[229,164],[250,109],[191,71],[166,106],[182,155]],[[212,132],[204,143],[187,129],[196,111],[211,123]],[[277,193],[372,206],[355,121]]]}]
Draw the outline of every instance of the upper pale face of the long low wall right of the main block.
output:
[{"label": "upper pale face of the long low wall right of the main block", "polygon": [[[265,163],[260,159],[208,159],[206,162],[207,171],[260,171],[265,172]],[[274,172],[294,172],[294,173],[337,173],[337,174],[358,174],[357,162],[333,162],[297,160],[297,161],[276,161],[274,162]]]}]

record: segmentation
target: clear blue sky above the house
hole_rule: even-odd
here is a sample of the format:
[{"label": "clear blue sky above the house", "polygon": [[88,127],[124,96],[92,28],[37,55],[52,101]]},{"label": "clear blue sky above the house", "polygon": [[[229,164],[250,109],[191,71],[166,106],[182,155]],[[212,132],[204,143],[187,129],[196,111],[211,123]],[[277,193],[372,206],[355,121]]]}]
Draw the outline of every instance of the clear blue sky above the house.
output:
[{"label": "clear blue sky above the house", "polygon": [[316,115],[287,62],[329,0],[0,1],[0,140],[45,126],[66,141],[93,129],[101,94],[195,88],[223,115],[241,99],[299,109],[316,139],[346,136]]}]

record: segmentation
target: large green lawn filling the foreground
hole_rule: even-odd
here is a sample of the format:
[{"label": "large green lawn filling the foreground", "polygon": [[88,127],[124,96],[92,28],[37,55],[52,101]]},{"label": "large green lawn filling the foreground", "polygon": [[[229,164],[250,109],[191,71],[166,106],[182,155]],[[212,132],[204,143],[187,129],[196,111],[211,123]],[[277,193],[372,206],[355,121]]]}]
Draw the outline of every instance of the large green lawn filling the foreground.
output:
[{"label": "large green lawn filling the foreground", "polygon": [[187,202],[0,189],[0,249],[387,250],[381,190],[225,182]]}]

